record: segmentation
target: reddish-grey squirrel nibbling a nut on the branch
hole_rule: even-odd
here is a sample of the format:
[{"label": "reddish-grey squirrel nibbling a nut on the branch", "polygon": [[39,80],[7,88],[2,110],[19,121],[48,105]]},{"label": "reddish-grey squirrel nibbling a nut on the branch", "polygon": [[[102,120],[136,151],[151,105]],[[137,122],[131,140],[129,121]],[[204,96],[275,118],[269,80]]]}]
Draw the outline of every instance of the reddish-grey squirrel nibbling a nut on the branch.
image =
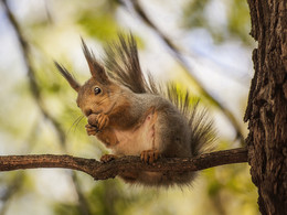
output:
[{"label": "reddish-grey squirrel nibbling a nut on the branch", "polygon": [[[105,49],[102,62],[82,39],[92,74],[84,85],[55,62],[77,92],[77,106],[88,121],[87,135],[96,136],[113,151],[100,161],[140,155],[144,162],[153,163],[160,157],[192,158],[209,151],[215,136],[206,110],[199,110],[189,93],[180,93],[176,85],[168,85],[163,90],[151,75],[145,78],[132,34],[118,37],[118,42]],[[131,184],[170,186],[190,184],[194,175],[194,172],[127,170],[119,176]]]}]

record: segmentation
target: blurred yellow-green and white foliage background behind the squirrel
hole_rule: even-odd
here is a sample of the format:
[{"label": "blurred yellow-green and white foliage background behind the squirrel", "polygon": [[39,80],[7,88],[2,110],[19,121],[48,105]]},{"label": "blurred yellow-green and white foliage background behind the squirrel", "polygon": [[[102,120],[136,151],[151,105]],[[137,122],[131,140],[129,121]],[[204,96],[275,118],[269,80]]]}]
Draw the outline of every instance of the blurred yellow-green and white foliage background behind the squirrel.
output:
[{"label": "blurred yellow-green and white foliage background behind the squirrel", "polygon": [[[76,94],[53,64],[81,82],[88,69],[81,36],[96,55],[131,31],[144,71],[200,97],[214,118],[219,149],[240,147],[254,43],[242,0],[0,1],[0,153],[68,153],[98,159]],[[224,108],[220,108],[224,107]],[[227,112],[228,111],[228,112]],[[227,112],[227,114],[226,114]],[[231,120],[232,119],[232,120]],[[236,127],[237,125],[237,127]],[[0,173],[0,214],[258,214],[247,164],[202,171],[190,187],[130,186],[68,170]]]}]

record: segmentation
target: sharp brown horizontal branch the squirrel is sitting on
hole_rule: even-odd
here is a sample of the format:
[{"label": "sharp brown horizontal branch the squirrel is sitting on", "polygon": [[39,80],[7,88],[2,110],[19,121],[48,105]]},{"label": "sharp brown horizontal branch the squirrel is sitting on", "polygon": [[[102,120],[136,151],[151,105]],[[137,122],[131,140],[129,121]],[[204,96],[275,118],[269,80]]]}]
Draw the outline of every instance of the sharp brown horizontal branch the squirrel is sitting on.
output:
[{"label": "sharp brown horizontal branch the squirrel is sitting on", "polygon": [[247,162],[247,149],[238,148],[201,154],[196,158],[161,158],[152,164],[145,164],[139,157],[123,157],[107,163],[95,159],[72,155],[2,155],[0,171],[36,168],[64,168],[85,172],[95,180],[106,180],[127,170],[158,171],[199,171],[217,165]]}]

